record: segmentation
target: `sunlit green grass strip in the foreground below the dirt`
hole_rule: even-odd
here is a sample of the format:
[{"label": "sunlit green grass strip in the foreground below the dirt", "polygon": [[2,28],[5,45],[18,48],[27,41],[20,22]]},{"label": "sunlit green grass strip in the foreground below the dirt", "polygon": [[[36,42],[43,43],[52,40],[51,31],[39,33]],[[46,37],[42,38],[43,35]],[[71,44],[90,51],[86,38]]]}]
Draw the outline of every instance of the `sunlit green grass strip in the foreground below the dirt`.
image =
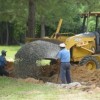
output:
[{"label": "sunlit green grass strip in the foreground below the dirt", "polygon": [[0,77],[0,100],[100,100],[100,95]]}]

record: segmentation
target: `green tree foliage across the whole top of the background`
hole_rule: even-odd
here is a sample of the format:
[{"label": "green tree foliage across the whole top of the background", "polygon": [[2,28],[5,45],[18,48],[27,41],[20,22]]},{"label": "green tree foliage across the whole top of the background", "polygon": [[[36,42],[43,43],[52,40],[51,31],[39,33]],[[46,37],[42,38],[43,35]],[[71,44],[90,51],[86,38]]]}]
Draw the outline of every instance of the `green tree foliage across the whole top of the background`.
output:
[{"label": "green tree foliage across the whole top of the background", "polygon": [[[61,32],[78,32],[81,20],[80,13],[100,11],[100,0],[35,0],[36,34],[40,34],[41,20],[45,18],[46,33],[56,30],[58,21],[63,19]],[[14,38],[27,31],[28,0],[0,0],[0,22],[10,22],[14,26]],[[92,29],[93,24],[89,24]],[[39,36],[39,35],[38,35]]]}]

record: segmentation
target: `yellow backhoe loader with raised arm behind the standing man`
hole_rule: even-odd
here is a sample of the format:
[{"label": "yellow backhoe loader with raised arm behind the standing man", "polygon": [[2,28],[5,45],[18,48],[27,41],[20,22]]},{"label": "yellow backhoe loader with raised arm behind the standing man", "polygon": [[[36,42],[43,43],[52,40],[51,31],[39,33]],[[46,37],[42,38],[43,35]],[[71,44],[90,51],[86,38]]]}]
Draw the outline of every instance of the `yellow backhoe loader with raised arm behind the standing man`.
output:
[{"label": "yellow backhoe loader with raised arm behind the standing man", "polygon": [[[70,50],[71,62],[78,62],[80,66],[85,65],[87,69],[94,70],[100,68],[100,28],[98,27],[100,12],[83,13],[81,16],[83,17],[83,33],[70,36],[69,33],[59,33],[62,24],[62,19],[60,19],[56,32],[48,39],[64,42],[66,48]],[[90,17],[95,17],[94,32],[85,30],[86,21]]]}]

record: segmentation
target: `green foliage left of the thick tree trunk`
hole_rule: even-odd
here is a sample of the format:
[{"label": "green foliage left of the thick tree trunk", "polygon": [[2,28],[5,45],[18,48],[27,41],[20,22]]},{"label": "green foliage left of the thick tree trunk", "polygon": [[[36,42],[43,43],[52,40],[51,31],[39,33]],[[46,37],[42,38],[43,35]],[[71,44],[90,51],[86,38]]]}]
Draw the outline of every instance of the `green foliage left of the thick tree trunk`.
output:
[{"label": "green foliage left of the thick tree trunk", "polygon": [[0,21],[10,22],[14,38],[26,32],[27,2],[24,0],[0,0]]}]

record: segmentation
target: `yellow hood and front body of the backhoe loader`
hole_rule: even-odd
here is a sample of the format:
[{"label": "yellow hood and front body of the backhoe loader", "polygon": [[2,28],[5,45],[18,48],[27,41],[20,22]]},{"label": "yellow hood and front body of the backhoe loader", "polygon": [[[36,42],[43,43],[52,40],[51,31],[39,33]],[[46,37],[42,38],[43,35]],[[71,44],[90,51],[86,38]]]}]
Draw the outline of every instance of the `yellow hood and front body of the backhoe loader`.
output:
[{"label": "yellow hood and front body of the backhoe loader", "polygon": [[71,52],[71,60],[80,61],[84,56],[94,54],[95,35],[88,36],[91,33],[83,33],[66,39],[65,44]]}]

